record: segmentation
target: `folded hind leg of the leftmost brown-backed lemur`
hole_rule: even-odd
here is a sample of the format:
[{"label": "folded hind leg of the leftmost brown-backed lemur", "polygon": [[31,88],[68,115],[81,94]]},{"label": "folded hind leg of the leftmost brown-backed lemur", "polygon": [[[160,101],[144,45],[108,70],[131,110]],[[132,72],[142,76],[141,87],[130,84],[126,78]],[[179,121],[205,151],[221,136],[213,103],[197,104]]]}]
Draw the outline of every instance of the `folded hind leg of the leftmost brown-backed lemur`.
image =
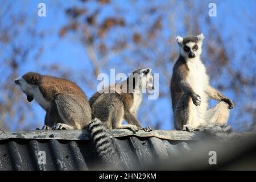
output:
[{"label": "folded hind leg of the leftmost brown-backed lemur", "polygon": [[56,124],[55,129],[72,130],[81,129],[82,107],[67,94],[57,94],[55,103],[60,115],[61,121]]}]

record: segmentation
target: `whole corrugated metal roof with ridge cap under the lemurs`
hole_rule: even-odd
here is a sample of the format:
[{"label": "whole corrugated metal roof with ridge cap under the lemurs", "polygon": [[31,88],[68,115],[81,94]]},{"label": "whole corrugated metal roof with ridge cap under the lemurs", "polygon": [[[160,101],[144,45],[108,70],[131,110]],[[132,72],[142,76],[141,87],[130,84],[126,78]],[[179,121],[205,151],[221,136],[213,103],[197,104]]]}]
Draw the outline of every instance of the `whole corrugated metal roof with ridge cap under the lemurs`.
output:
[{"label": "whole corrugated metal roof with ridge cap under the lemurs", "polygon": [[[165,133],[164,133],[165,132]],[[142,132],[142,137],[129,130],[111,130],[110,135],[127,169],[142,169],[159,159],[172,158],[180,150],[189,150],[186,142],[163,138],[199,139],[198,134],[184,132]],[[54,139],[52,139],[54,138]],[[39,151],[46,154],[46,164],[39,164]],[[92,140],[86,131],[24,131],[0,133],[0,170],[88,170],[100,164]]]}]

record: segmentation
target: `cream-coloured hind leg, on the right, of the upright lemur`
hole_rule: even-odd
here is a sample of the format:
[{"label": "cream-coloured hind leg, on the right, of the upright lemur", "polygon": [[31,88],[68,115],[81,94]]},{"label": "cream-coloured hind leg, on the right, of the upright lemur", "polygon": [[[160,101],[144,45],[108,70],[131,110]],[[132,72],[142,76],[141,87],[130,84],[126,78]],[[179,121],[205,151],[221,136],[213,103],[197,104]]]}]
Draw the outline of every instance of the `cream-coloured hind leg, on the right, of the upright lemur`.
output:
[{"label": "cream-coloured hind leg, on the right, of the upright lemur", "polygon": [[225,124],[229,118],[229,104],[220,101],[212,108],[208,109],[204,121],[207,123]]}]

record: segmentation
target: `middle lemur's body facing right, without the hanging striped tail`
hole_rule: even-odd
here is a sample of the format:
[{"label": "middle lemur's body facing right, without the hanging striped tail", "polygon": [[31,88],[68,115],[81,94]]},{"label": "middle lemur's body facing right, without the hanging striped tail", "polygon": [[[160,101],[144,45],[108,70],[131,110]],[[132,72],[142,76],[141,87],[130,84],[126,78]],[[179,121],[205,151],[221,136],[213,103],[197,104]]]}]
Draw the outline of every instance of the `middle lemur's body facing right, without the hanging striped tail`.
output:
[{"label": "middle lemur's body facing right, without the hanging striped tail", "polygon": [[[125,81],[110,85],[114,93],[95,93],[90,98],[92,118],[98,118],[106,129],[142,129],[137,119],[137,110],[142,101],[142,90],[154,90],[151,69],[137,69]],[[122,125],[123,119],[128,125]],[[150,127],[143,128],[151,131]]]}]

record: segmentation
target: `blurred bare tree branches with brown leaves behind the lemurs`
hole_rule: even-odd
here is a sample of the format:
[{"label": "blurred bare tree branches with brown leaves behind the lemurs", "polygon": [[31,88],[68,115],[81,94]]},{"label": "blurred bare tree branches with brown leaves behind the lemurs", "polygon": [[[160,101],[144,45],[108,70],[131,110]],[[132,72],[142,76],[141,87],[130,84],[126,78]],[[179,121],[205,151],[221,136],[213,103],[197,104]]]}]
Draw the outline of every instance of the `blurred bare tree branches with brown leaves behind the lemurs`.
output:
[{"label": "blurred bare tree branches with brown leaves behind the lemurs", "polygon": [[[55,34],[60,35],[60,41],[75,38],[80,43],[88,57],[81,65],[83,71],[62,70],[54,63],[42,69],[49,73],[54,70],[66,78],[78,75],[86,93],[93,93],[97,89],[98,73],[109,73],[110,68],[115,68],[116,73],[130,73],[139,67],[151,67],[153,72],[159,73],[159,98],[147,100],[145,97],[138,113],[139,121],[154,129],[170,130],[173,128],[169,85],[172,66],[179,56],[175,38],[178,34],[185,36],[203,32],[206,39],[202,59],[207,65],[210,82],[224,94],[229,94],[235,104],[229,122],[237,130],[255,130],[256,23],[251,14],[244,12],[242,16],[246,18],[241,18],[241,12],[233,11],[233,16],[237,17],[245,30],[245,34],[238,37],[232,34],[232,30],[229,36],[223,35],[222,30],[228,26],[216,24],[214,18],[208,16],[207,1],[76,2],[68,8],[58,5],[57,13],[64,16],[67,23]],[[218,2],[218,6],[221,5]],[[0,80],[0,130],[33,129],[35,122],[32,121],[37,119],[34,110],[24,102],[13,80],[23,65],[29,65],[28,56],[32,53],[40,55],[43,51],[38,42],[30,40],[42,39],[43,36],[33,28],[35,24],[31,26],[27,23],[26,14],[8,14],[11,6],[5,3],[0,11],[0,72],[4,75]],[[20,32],[26,32],[26,41],[20,39]],[[240,39],[246,40],[247,48],[234,46],[234,43],[239,44]],[[239,55],[237,51],[240,51]],[[163,127],[163,123],[169,123],[170,127]]]}]

